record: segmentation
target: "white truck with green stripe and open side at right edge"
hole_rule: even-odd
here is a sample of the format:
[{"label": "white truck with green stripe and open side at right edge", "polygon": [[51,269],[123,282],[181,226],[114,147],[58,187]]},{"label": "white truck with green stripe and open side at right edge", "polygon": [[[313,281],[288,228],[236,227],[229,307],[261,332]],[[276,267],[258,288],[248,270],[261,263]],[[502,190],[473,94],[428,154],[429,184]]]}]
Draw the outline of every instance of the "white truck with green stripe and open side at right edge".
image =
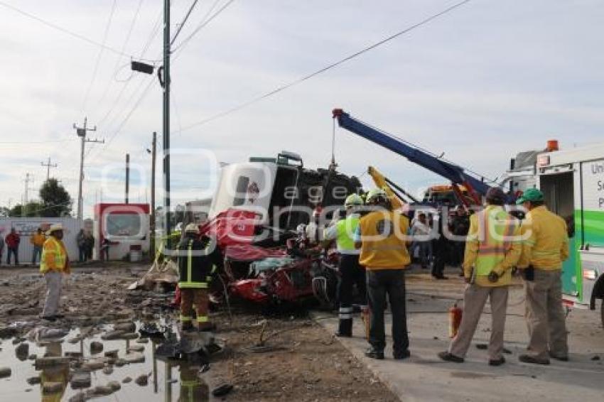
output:
[{"label": "white truck with green stripe and open side at right edge", "polygon": [[568,224],[564,303],[591,310],[599,303],[604,325],[604,143],[539,153],[536,187]]}]

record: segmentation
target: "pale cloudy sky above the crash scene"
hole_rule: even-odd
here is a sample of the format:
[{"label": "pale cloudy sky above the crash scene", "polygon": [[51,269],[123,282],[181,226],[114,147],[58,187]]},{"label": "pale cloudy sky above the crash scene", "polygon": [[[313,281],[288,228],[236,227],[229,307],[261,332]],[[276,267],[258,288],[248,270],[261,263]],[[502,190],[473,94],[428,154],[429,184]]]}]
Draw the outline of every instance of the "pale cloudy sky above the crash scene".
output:
[{"label": "pale cloudy sky above the crash scene", "polygon": [[[319,70],[443,11],[450,0],[199,0],[174,41],[171,175],[178,202],[205,197],[218,163],[299,153],[309,168],[331,158],[331,110],[445,153],[497,178],[519,151],[604,141],[604,2],[472,0],[424,26],[237,112],[210,116]],[[193,0],[173,0],[172,31]],[[16,7],[94,43],[24,16]],[[213,9],[212,9],[213,6]],[[163,1],[0,1],[0,206],[29,198],[50,175],[77,199],[85,117],[85,216],[95,202],[150,197],[151,133],[158,132],[161,205],[162,99],[156,75],[133,73],[131,58],[161,65]],[[343,129],[340,170],[374,165],[419,193],[443,179]],[[214,173],[212,173],[214,172]],[[178,194],[176,194],[178,192]]]}]

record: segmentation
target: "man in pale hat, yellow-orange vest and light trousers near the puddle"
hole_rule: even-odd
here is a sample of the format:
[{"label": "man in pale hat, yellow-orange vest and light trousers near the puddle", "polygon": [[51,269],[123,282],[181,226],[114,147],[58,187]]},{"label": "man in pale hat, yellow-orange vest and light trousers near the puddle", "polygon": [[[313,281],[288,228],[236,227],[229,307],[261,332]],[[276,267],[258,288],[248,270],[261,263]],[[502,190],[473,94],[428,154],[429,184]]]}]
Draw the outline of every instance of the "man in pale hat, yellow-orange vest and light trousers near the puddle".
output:
[{"label": "man in pale hat, yellow-orange vest and light trousers near the puddle", "polygon": [[57,318],[63,318],[63,315],[57,312],[61,300],[63,275],[70,273],[70,266],[67,249],[62,241],[63,225],[53,224],[46,234],[48,239],[44,241],[40,261],[40,272],[46,280],[47,289],[42,318],[55,321]]}]

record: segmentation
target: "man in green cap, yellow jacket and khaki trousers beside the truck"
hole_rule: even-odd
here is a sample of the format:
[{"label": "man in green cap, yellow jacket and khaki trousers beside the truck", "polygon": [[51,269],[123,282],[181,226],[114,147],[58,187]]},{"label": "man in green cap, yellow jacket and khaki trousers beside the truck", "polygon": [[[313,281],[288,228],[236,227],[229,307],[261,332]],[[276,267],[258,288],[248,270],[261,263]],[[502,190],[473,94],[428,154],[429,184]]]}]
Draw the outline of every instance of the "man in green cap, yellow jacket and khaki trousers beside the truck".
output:
[{"label": "man in green cap, yellow jacket and khaki trousers beside the truck", "polygon": [[549,212],[543,193],[530,188],[517,200],[528,210],[522,222],[522,255],[518,268],[524,276],[529,345],[520,362],[566,362],[568,341],[562,308],[562,262],[568,259],[566,222]]}]

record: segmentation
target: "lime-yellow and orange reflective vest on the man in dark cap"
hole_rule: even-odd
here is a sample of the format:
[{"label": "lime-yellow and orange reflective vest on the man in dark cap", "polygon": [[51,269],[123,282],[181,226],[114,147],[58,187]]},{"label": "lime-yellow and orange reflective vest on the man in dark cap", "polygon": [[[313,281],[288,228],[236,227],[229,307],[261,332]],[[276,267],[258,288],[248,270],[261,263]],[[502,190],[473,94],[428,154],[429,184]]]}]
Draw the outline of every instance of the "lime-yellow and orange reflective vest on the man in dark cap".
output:
[{"label": "lime-yellow and orange reflective vest on the man in dark cap", "polygon": [[[512,242],[509,238],[514,234],[516,222],[503,209],[484,210],[480,212],[478,219],[482,223],[484,234],[478,245],[476,275],[487,276],[502,263],[511,248]],[[491,226],[492,223],[495,223],[494,227]]]}]

